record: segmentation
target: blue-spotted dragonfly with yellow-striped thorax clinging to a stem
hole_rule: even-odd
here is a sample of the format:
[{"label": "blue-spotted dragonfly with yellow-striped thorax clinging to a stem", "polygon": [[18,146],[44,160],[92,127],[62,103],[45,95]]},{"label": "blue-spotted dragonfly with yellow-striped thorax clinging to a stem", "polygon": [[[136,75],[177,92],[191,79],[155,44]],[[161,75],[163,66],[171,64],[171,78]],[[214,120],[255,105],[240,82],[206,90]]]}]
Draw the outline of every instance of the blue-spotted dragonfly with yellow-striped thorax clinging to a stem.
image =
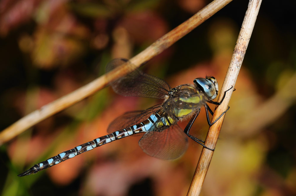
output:
[{"label": "blue-spotted dragonfly with yellow-striped thorax clinging to a stem", "polygon": [[[131,64],[127,59],[116,58],[107,64],[106,71],[111,71],[123,63]],[[188,137],[203,147],[214,150],[205,146],[204,141],[190,135],[189,130],[199,115],[201,107],[205,107],[209,126],[222,117],[229,107],[211,123],[209,113],[213,115],[213,111],[207,103],[220,105],[226,92],[232,87],[224,92],[221,102],[215,102],[213,99],[218,95],[218,83],[213,76],[196,78],[193,83],[171,88],[164,80],[145,74],[139,69],[111,82],[110,86],[117,94],[164,99],[164,101],[147,110],[127,112],[119,116],[109,125],[108,135],[59,153],[35,164],[18,176],[36,174],[38,171],[57,165],[83,152],[130,135],[142,135],[139,140],[141,149],[149,156],[159,159],[170,160],[180,157],[187,149]],[[182,130],[177,122],[190,117],[191,120]]]}]

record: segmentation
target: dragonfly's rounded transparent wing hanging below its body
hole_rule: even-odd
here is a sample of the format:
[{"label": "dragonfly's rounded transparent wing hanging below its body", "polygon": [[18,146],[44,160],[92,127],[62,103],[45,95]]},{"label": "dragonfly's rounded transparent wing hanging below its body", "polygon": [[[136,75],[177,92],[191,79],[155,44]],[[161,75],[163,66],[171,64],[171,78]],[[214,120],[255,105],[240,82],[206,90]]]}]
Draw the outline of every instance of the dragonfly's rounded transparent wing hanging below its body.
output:
[{"label": "dragonfly's rounded transparent wing hanging below its body", "polygon": [[176,159],[188,147],[188,139],[179,125],[163,131],[148,131],[139,141],[139,146],[149,156],[159,159]]}]

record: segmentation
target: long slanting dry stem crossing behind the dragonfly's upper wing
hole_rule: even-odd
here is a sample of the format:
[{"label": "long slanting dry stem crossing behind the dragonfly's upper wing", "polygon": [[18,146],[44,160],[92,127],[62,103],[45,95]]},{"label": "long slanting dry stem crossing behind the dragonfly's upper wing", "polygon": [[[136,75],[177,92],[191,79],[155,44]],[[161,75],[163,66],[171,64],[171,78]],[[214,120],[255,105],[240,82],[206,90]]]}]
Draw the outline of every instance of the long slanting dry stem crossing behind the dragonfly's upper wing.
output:
[{"label": "long slanting dry stem crossing behind the dragonfly's upper wing", "polygon": [[166,48],[170,47],[181,37],[192,31],[195,27],[200,25],[202,22],[204,22],[206,19],[211,17],[216,12],[218,12],[230,1],[232,0],[212,1],[202,10],[194,14],[194,16],[189,18],[187,21],[183,22],[181,25],[179,25],[178,27],[171,30],[163,37],[155,41],[152,45],[143,50],[141,53],[131,58],[130,60],[135,66],[131,66],[125,63],[122,66],[112,70],[111,72],[103,76],[100,76],[91,83],[75,90],[74,92],[63,96],[60,99],[55,100],[54,102],[46,104],[41,109],[36,110],[21,118],[20,120],[10,125],[8,128],[4,129],[0,133],[0,145],[19,135],[31,126],[40,122],[41,120],[44,120],[45,118],[54,115],[55,113],[64,110],[65,108],[81,101],[82,99],[90,96],[91,94],[94,94],[99,89],[102,89],[104,86],[106,86],[110,81],[113,81],[133,71],[142,63],[148,61],[152,57],[161,53]]}]

